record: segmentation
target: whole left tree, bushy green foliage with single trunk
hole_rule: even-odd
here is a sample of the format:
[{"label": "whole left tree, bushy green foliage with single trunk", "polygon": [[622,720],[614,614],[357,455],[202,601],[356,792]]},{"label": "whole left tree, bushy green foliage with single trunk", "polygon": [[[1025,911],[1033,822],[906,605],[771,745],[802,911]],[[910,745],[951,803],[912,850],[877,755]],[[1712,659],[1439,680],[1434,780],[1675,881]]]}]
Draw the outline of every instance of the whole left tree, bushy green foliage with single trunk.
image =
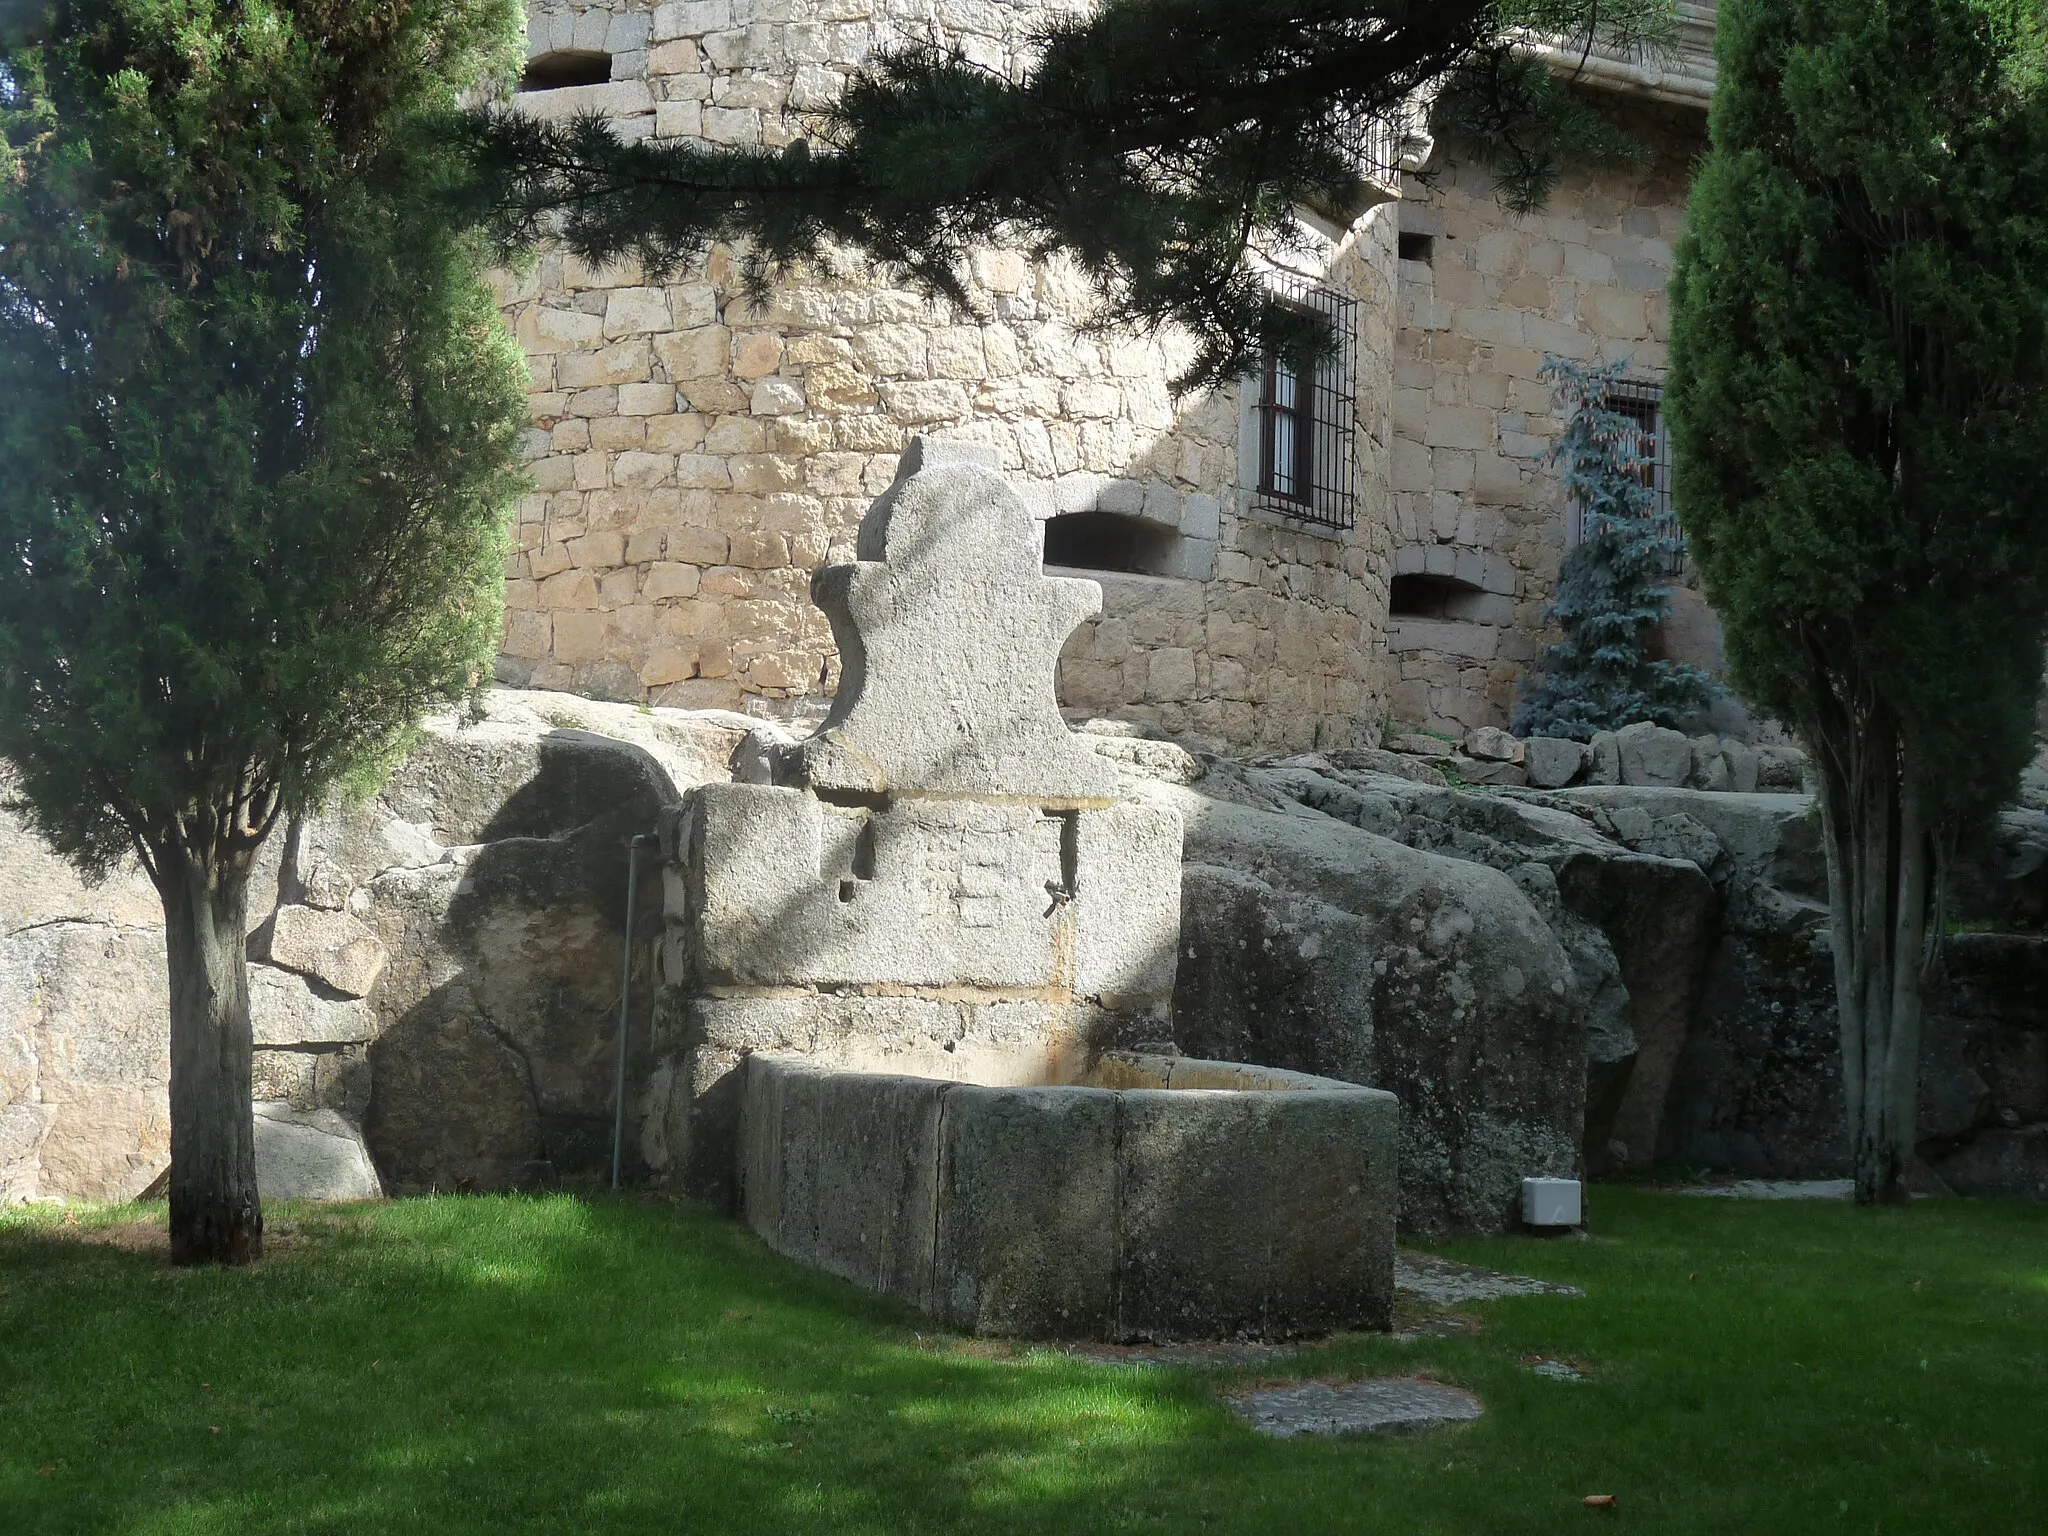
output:
[{"label": "whole left tree, bushy green foliage with single trunk", "polygon": [[170,1247],[262,1245],[248,879],[487,676],[524,362],[428,195],[514,0],[61,0],[0,41],[0,758],[170,969]]}]

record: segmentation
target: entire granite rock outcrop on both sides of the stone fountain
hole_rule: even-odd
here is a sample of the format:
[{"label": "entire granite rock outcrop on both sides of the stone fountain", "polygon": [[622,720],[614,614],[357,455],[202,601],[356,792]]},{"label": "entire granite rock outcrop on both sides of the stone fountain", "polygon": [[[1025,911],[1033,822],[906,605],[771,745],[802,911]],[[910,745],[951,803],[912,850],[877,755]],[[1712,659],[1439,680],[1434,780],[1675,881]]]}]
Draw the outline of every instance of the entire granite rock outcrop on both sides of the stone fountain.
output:
[{"label": "entire granite rock outcrop on both sides of the stone fountain", "polygon": [[[428,723],[371,801],[274,838],[250,934],[264,1190],[600,1178],[627,840],[731,778],[760,725],[498,692]],[[1741,793],[1739,743],[1729,791],[1470,791],[1436,737],[1241,764],[1081,731],[1186,819],[1178,1047],[1395,1090],[1411,1231],[1499,1229],[1516,1180],[1579,1165],[1843,1169],[1819,823]],[[1552,776],[1522,745],[1499,766]],[[1583,756],[1597,778],[1602,743]],[[1966,1194],[2048,1198],[2048,776],[2028,795],[1958,874],[1929,1008],[1921,1153]],[[0,868],[0,1200],[129,1198],[168,1153],[156,893],[133,868],[82,885],[4,811]],[[651,858],[641,891],[647,954]],[[649,981],[629,1167],[668,1178]]]}]

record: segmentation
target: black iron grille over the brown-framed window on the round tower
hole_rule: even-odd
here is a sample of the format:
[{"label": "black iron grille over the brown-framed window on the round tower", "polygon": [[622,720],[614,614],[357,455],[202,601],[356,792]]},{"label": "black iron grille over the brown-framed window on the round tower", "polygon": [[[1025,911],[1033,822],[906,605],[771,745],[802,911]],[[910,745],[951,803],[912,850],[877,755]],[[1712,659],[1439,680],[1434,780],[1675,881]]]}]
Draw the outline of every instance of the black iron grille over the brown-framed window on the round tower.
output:
[{"label": "black iron grille over the brown-framed window on the round tower", "polygon": [[1260,481],[1253,506],[1325,528],[1358,526],[1354,299],[1274,274],[1280,295],[1329,326],[1313,377],[1270,356],[1260,373]]}]

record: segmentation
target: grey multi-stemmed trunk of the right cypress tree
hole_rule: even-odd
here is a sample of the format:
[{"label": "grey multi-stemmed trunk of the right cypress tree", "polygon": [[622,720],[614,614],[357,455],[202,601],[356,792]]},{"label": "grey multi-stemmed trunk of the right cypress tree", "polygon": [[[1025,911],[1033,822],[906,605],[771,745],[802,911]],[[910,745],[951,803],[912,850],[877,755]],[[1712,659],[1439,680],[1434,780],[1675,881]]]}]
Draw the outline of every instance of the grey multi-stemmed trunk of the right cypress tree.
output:
[{"label": "grey multi-stemmed trunk of the right cypress tree", "polygon": [[1919,1124],[1933,842],[1896,723],[1876,711],[1845,735],[1817,741],[1841,1085],[1855,1200],[1898,1204]]}]

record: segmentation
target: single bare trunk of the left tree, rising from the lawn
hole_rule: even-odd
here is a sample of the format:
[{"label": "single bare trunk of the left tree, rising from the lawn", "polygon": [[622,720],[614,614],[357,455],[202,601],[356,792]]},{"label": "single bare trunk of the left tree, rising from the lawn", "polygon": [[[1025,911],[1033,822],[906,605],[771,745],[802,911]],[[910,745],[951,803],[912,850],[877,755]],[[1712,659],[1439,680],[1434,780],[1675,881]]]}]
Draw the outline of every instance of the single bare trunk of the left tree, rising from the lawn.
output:
[{"label": "single bare trunk of the left tree, rising from the lawn", "polygon": [[170,1262],[262,1255],[250,1110],[248,868],[158,862],[170,952]]}]

